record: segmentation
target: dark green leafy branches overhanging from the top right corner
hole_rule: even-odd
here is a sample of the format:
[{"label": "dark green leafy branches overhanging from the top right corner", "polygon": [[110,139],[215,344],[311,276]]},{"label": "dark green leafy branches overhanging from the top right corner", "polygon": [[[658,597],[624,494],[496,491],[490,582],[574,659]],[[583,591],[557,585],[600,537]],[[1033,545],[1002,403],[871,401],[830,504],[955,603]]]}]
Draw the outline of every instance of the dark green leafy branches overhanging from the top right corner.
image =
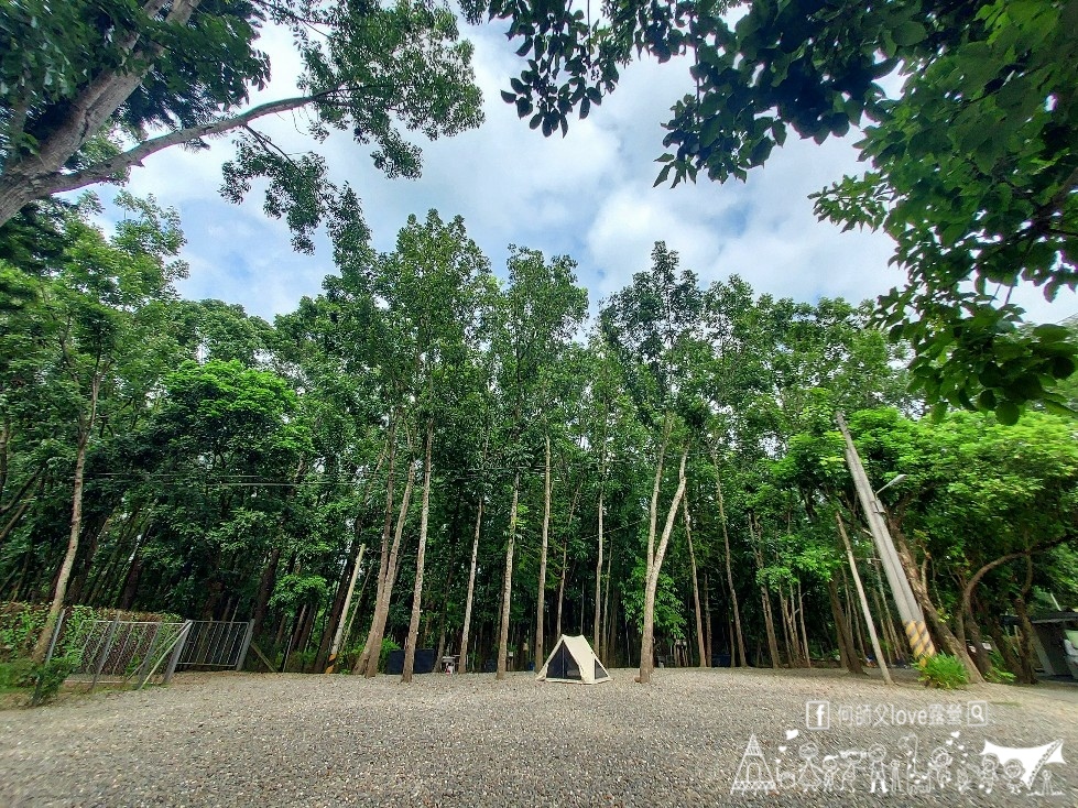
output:
[{"label": "dark green leafy branches overhanging from the top right corner", "polygon": [[[871,170],[816,195],[816,209],[894,239],[908,283],[880,298],[879,318],[913,345],[918,390],[1009,423],[1026,401],[1058,402],[1043,381],[1070,375],[1078,346],[1017,328],[1010,293],[1078,286],[1075,4],[734,6],[624,0],[585,18],[567,0],[492,0],[471,13],[511,20],[529,66],[502,97],[545,135],[574,109],[586,117],[634,56],[690,58],[696,92],[664,124],[656,185],[748,181],[791,129],[823,143],[869,124],[858,146]],[[892,99],[880,80],[896,72]]]}]

